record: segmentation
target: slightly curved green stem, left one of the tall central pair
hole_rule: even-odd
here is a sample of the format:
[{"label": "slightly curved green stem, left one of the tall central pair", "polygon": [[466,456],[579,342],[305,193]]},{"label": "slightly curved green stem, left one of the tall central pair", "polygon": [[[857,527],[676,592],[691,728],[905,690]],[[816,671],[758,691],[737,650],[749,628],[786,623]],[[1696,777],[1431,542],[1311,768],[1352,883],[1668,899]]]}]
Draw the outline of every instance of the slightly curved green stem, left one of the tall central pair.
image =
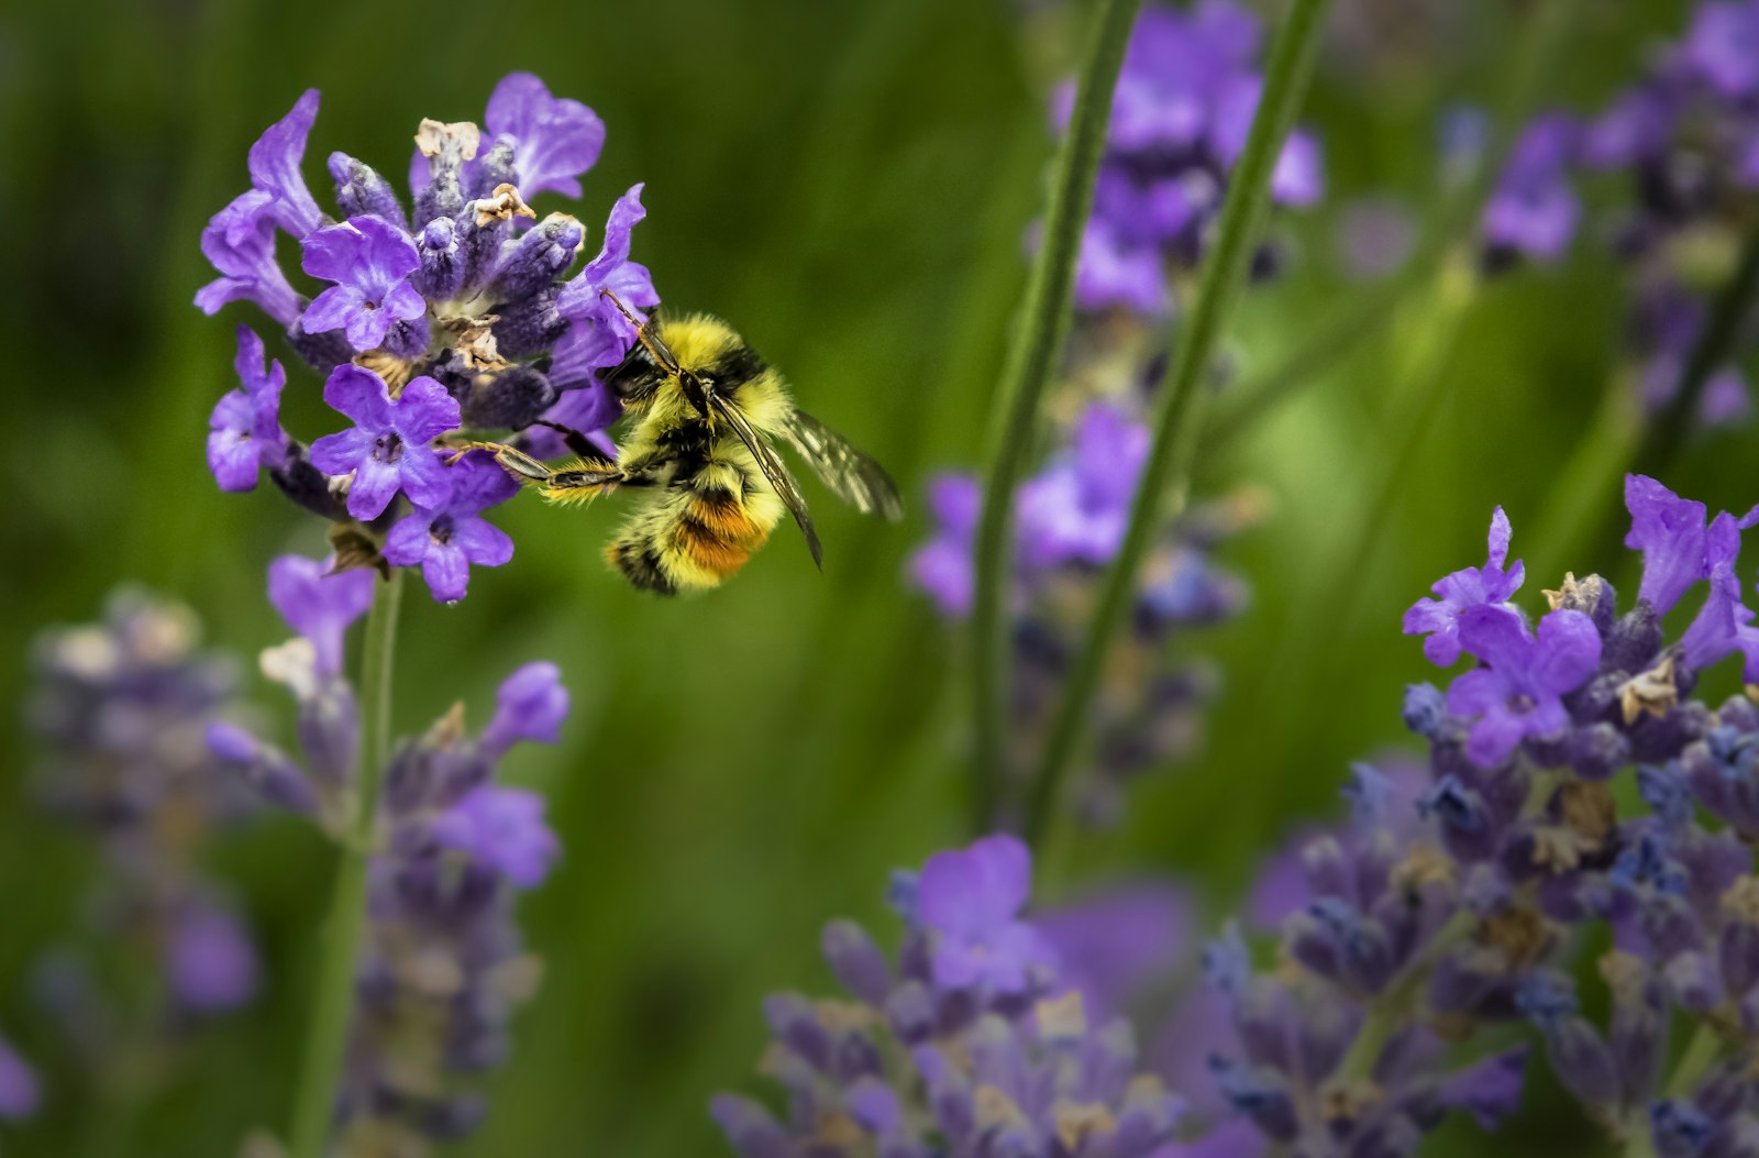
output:
[{"label": "slightly curved green stem, left one of the tall central pair", "polygon": [[1025,290],[1025,313],[1003,371],[1001,405],[983,514],[976,535],[976,591],[973,600],[973,686],[976,695],[974,820],[996,824],[1003,797],[1003,744],[1006,732],[1010,523],[1013,491],[1025,466],[1040,398],[1069,329],[1075,297],[1075,259],[1092,211],[1094,180],[1112,116],[1112,90],[1124,67],[1124,48],[1142,0],[1101,0],[1087,55],[1075,88],[1069,130],[1057,150],[1045,209],[1045,236]]}]

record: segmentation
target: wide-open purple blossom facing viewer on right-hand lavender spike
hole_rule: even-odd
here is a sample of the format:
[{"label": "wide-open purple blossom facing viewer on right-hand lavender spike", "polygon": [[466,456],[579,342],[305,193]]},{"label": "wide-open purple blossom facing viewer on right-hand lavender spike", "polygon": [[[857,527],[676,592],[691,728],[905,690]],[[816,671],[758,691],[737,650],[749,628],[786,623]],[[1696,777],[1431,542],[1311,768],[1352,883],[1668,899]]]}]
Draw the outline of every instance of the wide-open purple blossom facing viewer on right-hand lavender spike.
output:
[{"label": "wide-open purple blossom facing viewer on right-hand lavender spike", "polygon": [[1601,634],[1580,611],[1553,611],[1529,634],[1520,612],[1499,605],[1460,614],[1460,646],[1485,667],[1448,688],[1448,711],[1476,720],[1467,755],[1479,767],[1509,759],[1523,737],[1562,732],[1562,695],[1580,688],[1601,662]]}]

